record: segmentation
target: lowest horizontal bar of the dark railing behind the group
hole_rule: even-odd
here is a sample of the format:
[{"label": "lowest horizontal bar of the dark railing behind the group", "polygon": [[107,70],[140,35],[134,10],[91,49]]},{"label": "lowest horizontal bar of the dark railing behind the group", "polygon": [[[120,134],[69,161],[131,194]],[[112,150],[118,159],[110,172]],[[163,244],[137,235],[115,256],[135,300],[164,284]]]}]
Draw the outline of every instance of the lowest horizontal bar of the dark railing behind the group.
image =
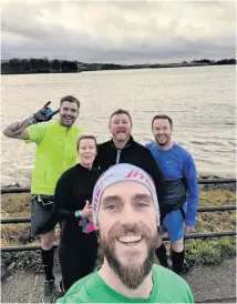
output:
[{"label": "lowest horizontal bar of the dark railing behind the group", "polygon": [[[186,234],[185,239],[210,239],[210,237],[223,237],[236,235],[236,231],[224,231],[224,232],[210,232],[210,233],[189,233]],[[163,237],[164,241],[168,241],[168,237]],[[53,247],[58,247],[54,245]],[[1,252],[12,251],[35,251],[41,250],[41,246],[8,246],[1,247]]]}]

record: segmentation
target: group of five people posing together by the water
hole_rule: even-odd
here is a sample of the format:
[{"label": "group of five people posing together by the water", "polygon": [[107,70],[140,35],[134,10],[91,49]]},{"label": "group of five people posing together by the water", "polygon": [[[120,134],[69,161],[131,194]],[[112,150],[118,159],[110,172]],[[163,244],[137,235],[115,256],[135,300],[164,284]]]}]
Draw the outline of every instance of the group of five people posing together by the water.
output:
[{"label": "group of five people posing together by the water", "polygon": [[[144,146],[132,136],[131,114],[116,110],[109,120],[112,139],[99,144],[74,125],[76,98],[62,98],[56,111],[49,105],[3,131],[37,144],[31,234],[40,235],[42,244],[43,302],[59,296],[53,275],[58,223],[64,295],[59,303],[193,302],[177,274],[185,257],[185,232],[195,226],[197,172],[192,155],[172,141],[172,119],[154,116],[155,141]],[[56,113],[59,120],[42,123]],[[172,271],[165,270],[166,232]],[[95,271],[99,246],[103,263]],[[163,267],[154,266],[155,255]]]}]

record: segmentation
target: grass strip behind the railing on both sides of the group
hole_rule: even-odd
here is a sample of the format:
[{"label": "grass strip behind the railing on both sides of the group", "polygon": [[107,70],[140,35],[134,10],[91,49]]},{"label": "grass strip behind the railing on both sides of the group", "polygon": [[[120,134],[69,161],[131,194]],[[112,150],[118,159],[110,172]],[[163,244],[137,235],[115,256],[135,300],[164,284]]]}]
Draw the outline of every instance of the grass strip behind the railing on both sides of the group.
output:
[{"label": "grass strip behind the railing on both sides of the group", "polygon": [[[30,194],[4,194],[1,201],[2,217],[29,217]],[[200,206],[235,205],[236,193],[226,190],[200,191]],[[196,232],[220,232],[236,230],[236,213],[208,212],[199,213],[197,216]],[[29,224],[4,224],[1,227],[1,245],[27,245],[40,244],[39,241],[30,243]],[[58,229],[59,233],[59,229]],[[187,240],[186,249],[188,255],[197,263],[210,265],[218,264],[225,257],[236,254],[236,239],[219,237],[209,240]]]}]

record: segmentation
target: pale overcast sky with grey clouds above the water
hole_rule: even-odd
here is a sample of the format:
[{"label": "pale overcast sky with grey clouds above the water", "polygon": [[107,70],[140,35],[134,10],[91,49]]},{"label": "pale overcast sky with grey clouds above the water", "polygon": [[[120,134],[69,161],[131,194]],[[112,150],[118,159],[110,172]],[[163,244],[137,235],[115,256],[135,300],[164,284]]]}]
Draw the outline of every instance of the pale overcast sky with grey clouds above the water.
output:
[{"label": "pale overcast sky with grey clouds above the water", "polygon": [[1,3],[1,58],[151,63],[236,57],[236,1]]}]

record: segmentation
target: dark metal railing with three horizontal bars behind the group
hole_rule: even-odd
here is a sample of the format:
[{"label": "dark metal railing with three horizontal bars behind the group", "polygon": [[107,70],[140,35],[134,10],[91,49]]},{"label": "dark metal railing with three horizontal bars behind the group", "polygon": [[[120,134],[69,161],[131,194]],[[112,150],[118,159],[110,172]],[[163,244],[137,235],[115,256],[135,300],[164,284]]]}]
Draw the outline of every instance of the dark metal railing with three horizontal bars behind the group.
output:
[{"label": "dark metal railing with three horizontal bars behind the group", "polygon": [[[235,183],[236,179],[199,179],[198,184],[223,184],[223,183]],[[4,188],[1,189],[1,194],[7,193],[29,193],[29,188]],[[198,212],[226,212],[235,211],[236,205],[224,205],[224,206],[200,206]],[[18,217],[18,219],[1,219],[1,224],[18,224],[18,223],[30,223],[31,219],[29,217]],[[236,231],[224,231],[224,232],[212,232],[212,233],[189,233],[186,234],[186,239],[210,239],[210,237],[223,237],[223,236],[233,236],[236,235]],[[168,237],[164,237],[164,241],[168,241]],[[54,245],[56,247],[58,245]],[[35,251],[40,250],[41,246],[6,246],[1,247],[2,252],[13,252],[13,251]]]}]

